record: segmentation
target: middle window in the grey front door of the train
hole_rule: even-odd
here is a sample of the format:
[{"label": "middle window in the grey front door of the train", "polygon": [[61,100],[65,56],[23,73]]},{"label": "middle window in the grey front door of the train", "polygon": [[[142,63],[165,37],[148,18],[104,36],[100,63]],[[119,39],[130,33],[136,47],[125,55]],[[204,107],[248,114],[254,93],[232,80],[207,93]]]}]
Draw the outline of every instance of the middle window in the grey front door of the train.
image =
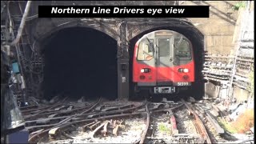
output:
[{"label": "middle window in the grey front door of the train", "polygon": [[170,55],[170,38],[159,38],[159,57],[166,57]]}]

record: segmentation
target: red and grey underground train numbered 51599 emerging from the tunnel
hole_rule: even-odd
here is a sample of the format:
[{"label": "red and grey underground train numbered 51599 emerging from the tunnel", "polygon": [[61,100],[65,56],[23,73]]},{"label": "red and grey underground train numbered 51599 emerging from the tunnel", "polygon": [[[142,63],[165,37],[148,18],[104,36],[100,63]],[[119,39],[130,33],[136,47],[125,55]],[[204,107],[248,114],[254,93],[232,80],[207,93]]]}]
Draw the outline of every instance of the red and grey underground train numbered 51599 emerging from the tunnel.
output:
[{"label": "red and grey underground train numbered 51599 emerging from the tunnel", "polygon": [[178,94],[194,82],[193,47],[188,38],[171,30],[145,34],[136,42],[133,59],[135,95]]}]

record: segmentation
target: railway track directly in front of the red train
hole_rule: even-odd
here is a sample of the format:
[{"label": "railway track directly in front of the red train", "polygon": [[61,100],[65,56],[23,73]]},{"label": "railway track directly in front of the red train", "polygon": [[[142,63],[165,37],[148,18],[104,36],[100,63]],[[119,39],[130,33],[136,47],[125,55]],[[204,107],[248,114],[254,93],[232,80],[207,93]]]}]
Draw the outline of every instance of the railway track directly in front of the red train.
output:
[{"label": "railway track directly in front of the red train", "polygon": [[[185,111],[182,106],[186,107],[188,120],[193,122],[193,132],[182,131],[182,128],[177,125],[174,111],[178,110],[177,108]],[[134,143],[212,143],[201,119],[184,100],[181,105],[167,110],[166,113],[159,112],[146,111],[146,128],[143,130],[141,139]],[[178,122],[182,123],[182,120],[179,119]]]}]

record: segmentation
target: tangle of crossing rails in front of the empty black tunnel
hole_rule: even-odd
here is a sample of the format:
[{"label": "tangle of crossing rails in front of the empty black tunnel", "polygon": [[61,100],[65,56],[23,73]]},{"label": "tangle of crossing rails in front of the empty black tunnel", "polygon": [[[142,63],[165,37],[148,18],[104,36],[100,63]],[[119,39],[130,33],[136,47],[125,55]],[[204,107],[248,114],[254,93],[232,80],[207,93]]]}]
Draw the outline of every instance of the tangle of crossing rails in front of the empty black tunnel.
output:
[{"label": "tangle of crossing rails in front of the empty black tunnel", "polygon": [[[74,127],[81,129],[83,132],[89,133],[87,138],[95,138],[99,135],[118,136],[118,131],[123,129],[126,122],[134,121],[134,118],[146,121],[149,124],[149,113],[167,112],[170,108],[166,104],[150,104],[150,102],[140,102],[139,104],[125,104],[122,106],[106,106],[101,102],[101,98],[97,102],[90,103],[82,108],[74,110],[65,110],[70,108],[63,101],[42,108],[33,108],[34,110],[23,109],[22,112],[26,116],[26,129],[30,132],[30,143],[51,142],[60,139],[75,139],[70,131],[75,131]],[[150,104],[150,107],[147,107]],[[38,114],[34,114],[37,112]],[[146,111],[145,111],[146,110]],[[132,126],[132,125],[130,125]],[[128,126],[129,127],[129,126]],[[127,126],[126,126],[127,129]],[[140,138],[142,143],[146,137],[147,131],[144,130],[144,136]],[[138,134],[139,135],[139,134]]]}]

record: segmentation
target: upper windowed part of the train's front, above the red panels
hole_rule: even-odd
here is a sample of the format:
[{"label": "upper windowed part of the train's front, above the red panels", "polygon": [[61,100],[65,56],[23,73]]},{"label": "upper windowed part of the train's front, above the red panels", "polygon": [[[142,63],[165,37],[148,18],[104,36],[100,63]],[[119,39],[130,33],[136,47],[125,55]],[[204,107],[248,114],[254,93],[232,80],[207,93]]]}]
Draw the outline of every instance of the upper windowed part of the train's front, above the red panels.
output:
[{"label": "upper windowed part of the train's front, above the red panels", "polygon": [[192,46],[182,34],[160,30],[142,38],[136,57],[149,66],[154,66],[153,61],[161,61],[160,66],[180,66],[192,61]]}]

